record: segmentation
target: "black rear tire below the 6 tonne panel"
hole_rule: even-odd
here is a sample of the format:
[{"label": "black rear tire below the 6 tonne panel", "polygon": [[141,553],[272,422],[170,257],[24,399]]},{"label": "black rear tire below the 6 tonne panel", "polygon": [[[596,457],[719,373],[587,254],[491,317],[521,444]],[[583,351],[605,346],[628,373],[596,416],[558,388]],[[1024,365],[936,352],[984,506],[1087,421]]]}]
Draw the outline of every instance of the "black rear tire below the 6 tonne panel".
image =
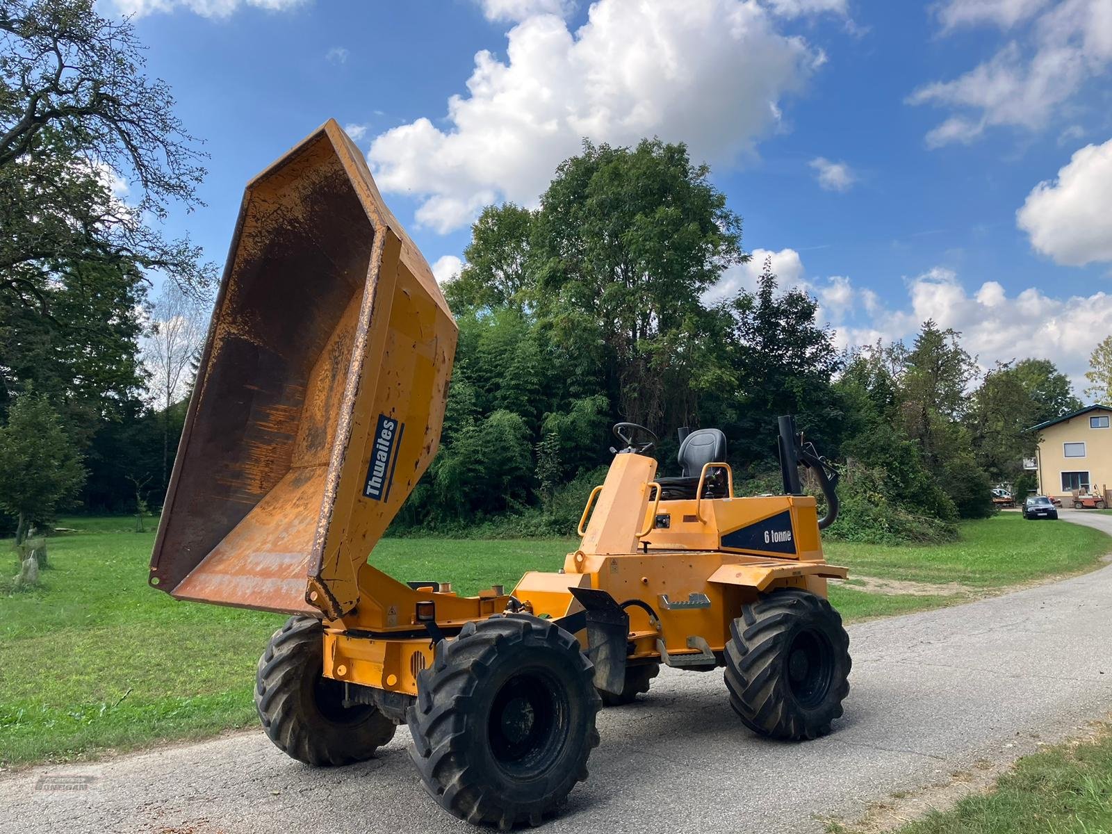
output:
[{"label": "black rear tire below the 6 tonne panel", "polygon": [[800,741],[831,732],[850,693],[850,635],[821,596],[782,588],[742,606],[726,644],[729,704],[755,733]]}]

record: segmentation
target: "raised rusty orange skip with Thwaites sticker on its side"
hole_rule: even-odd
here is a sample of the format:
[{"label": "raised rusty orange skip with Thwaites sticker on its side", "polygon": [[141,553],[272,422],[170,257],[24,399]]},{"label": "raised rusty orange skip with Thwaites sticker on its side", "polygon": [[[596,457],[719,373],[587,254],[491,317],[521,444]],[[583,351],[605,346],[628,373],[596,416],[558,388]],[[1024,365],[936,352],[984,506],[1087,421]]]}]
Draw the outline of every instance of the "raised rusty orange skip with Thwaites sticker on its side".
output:
[{"label": "raised rusty orange skip with Thwaites sticker on its side", "polygon": [[436,453],[456,326],[335,121],[244,195],[151,556],[180,599],[338,617]]}]

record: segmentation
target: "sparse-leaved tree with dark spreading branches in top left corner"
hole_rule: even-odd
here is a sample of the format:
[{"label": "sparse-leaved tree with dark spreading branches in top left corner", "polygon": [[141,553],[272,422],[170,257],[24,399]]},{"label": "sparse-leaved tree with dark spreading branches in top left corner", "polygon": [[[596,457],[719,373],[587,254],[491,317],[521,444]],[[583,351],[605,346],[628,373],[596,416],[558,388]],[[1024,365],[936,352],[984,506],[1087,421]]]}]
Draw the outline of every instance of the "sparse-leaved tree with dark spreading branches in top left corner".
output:
[{"label": "sparse-leaved tree with dark spreading branches in top left corner", "polygon": [[[200,203],[196,140],[143,72],[130,21],[95,0],[0,0],[0,297],[50,315],[43,287],[69,261],[158,269],[203,290],[211,266],[168,240],[171,202]],[[138,186],[131,205],[113,187]],[[130,196],[130,195],[129,195]]]}]

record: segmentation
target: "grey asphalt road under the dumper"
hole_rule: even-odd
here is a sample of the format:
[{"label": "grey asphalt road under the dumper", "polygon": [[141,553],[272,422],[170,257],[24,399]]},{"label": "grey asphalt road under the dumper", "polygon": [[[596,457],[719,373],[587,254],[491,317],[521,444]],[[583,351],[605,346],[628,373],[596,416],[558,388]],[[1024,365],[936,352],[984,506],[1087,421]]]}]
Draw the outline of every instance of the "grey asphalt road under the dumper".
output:
[{"label": "grey asphalt road under the dumper", "polygon": [[[1112,533],[1112,516],[1062,516]],[[599,714],[590,778],[543,830],[822,831],[822,815],[855,818],[1108,715],[1110,634],[1112,566],[853,626],[845,717],[807,744],[747,732],[721,672],[665,669],[643,702]],[[24,771],[0,778],[0,832],[474,832],[426,797],[408,744],[400,728],[375,761],[311,770],[251,732]]]}]

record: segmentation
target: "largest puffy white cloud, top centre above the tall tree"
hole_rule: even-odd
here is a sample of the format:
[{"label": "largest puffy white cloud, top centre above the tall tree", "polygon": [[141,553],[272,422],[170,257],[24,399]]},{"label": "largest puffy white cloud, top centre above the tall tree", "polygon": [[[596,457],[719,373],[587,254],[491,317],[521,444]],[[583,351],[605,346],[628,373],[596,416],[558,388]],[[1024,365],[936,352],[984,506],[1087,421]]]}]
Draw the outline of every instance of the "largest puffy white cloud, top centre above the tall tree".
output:
[{"label": "largest puffy white cloud, top centre above the tall tree", "polygon": [[574,32],[542,14],[507,38],[505,61],[475,56],[446,125],[419,118],[371,143],[379,187],[419,197],[423,226],[450,231],[492,200],[535,205],[583,137],[655,135],[687,141],[697,160],[735,161],[820,58],[753,0],[598,0]]}]

